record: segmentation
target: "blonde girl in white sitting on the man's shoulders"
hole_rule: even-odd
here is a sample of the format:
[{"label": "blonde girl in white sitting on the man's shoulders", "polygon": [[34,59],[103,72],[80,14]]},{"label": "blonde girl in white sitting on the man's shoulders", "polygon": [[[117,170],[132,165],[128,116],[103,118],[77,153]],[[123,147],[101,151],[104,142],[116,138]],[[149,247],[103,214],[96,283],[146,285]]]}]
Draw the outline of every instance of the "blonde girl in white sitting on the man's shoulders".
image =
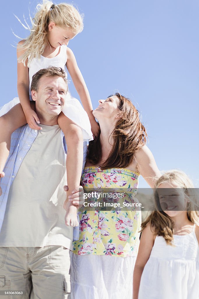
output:
[{"label": "blonde girl in white sitting on the man's shoulders", "polygon": [[[51,1],[44,0],[43,4],[37,5],[37,13],[32,20],[32,25],[30,35],[21,40],[17,46],[19,98],[15,98],[0,110],[0,115],[3,115],[0,118],[0,177],[4,177],[3,168],[9,153],[12,132],[26,123],[31,129],[42,129],[34,111],[34,103],[30,102],[32,100],[30,85],[33,74],[48,66],[61,67],[65,71],[69,71],[86,111],[79,101],[72,98],[68,92],[63,113],[58,118],[58,124],[64,132],[67,143],[66,165],[69,188],[67,193],[70,196],[71,191],[77,189],[80,183],[83,139],[92,140],[92,134],[97,136],[99,130],[99,126],[92,115],[92,104],[87,86],[73,52],[67,47],[70,39],[73,39],[83,30],[82,16],[71,4],[55,5]],[[49,95],[52,101],[48,105],[53,107],[55,105],[53,103],[54,98],[59,97],[59,94],[55,94],[49,86]],[[64,208],[67,210],[66,225],[77,226],[75,206],[66,200]]]}]

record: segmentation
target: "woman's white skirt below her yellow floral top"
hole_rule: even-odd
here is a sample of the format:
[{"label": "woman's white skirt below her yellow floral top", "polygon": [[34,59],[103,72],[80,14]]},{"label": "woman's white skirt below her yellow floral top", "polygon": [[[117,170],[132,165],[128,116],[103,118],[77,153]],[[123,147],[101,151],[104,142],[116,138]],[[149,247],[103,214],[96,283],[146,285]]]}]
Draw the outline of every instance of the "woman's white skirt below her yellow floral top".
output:
[{"label": "woman's white skirt below her yellow floral top", "polygon": [[132,299],[136,257],[70,253],[71,299]]}]

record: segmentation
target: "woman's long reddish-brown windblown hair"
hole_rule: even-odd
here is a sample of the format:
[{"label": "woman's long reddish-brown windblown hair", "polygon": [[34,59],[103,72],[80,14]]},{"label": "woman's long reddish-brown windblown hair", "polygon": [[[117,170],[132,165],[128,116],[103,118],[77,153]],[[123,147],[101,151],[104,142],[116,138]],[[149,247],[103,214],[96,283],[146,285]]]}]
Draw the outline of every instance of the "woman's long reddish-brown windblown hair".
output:
[{"label": "woman's long reddish-brown windblown hair", "polygon": [[[100,164],[101,169],[127,167],[132,163],[135,151],[146,144],[146,129],[140,121],[138,110],[128,98],[118,92],[114,95],[119,99],[120,118],[111,133],[112,149],[107,160]],[[102,158],[100,134],[90,141],[88,149],[88,160],[94,165],[99,164]]]}]

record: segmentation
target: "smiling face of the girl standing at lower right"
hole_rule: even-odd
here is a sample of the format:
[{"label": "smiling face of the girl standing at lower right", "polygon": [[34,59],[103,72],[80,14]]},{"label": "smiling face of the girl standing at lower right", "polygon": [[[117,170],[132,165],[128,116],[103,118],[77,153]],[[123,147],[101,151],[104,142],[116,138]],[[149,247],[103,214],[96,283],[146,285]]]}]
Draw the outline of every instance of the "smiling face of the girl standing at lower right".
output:
[{"label": "smiling face of the girl standing at lower right", "polygon": [[158,196],[162,210],[170,217],[177,216],[181,211],[187,211],[188,197],[183,188],[172,182],[163,182],[158,187]]}]

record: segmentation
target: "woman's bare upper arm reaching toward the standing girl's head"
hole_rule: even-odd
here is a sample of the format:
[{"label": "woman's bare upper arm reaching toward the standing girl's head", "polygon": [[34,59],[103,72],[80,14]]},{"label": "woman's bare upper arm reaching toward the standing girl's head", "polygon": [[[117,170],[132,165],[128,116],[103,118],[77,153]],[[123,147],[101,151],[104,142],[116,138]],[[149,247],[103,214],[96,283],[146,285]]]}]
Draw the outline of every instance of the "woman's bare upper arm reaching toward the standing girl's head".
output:
[{"label": "woman's bare upper arm reaching toward the standing girl's head", "polygon": [[153,188],[155,181],[161,176],[161,173],[155,163],[152,152],[146,145],[144,145],[141,149],[135,152],[134,157],[138,172],[143,176],[149,186]]}]

